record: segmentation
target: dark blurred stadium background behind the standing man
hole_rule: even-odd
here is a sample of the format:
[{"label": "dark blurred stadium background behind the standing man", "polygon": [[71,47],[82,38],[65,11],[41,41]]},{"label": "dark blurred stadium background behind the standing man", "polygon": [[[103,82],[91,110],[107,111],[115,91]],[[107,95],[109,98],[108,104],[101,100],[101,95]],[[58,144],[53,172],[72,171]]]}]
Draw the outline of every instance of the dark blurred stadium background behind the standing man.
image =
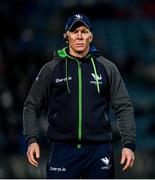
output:
[{"label": "dark blurred stadium background behind the standing man", "polygon": [[1,0],[0,1],[0,178],[45,178],[49,155],[43,112],[40,165],[28,165],[22,132],[23,103],[53,51],[65,45],[64,23],[86,14],[94,41],[119,68],[135,107],[137,151],[127,173],[119,164],[120,137],[113,124],[117,178],[155,178],[155,1]]}]

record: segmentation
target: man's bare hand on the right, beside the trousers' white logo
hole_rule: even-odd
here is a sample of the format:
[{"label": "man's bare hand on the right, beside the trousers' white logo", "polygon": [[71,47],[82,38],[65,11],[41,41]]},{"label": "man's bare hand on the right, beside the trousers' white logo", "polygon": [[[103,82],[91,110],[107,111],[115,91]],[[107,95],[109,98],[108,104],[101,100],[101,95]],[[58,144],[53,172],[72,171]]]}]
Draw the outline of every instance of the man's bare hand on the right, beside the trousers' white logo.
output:
[{"label": "man's bare hand on the right, beside the trousers' white logo", "polygon": [[134,152],[129,148],[122,149],[121,164],[124,164],[123,171],[133,166],[135,160]]}]

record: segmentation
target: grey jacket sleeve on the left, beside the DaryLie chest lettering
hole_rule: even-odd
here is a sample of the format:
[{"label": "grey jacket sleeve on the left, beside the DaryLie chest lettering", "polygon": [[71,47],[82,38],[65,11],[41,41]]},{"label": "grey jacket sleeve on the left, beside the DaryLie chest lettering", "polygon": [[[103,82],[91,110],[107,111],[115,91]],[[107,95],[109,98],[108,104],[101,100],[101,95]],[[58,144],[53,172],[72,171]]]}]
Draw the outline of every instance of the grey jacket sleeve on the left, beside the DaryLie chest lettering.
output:
[{"label": "grey jacket sleeve on the left, beside the DaryLie chest lettering", "polygon": [[37,75],[23,108],[23,133],[29,145],[39,139],[39,117],[43,104],[48,101],[50,68],[43,66]]}]

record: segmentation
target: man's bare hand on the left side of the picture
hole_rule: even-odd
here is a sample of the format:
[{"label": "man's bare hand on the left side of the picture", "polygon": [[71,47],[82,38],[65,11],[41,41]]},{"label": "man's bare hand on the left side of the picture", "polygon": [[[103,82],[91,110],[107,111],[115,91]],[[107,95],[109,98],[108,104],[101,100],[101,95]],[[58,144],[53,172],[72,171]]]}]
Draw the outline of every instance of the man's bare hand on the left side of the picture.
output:
[{"label": "man's bare hand on the left side of the picture", "polygon": [[33,166],[38,166],[38,158],[40,157],[40,148],[37,143],[32,143],[29,145],[27,150],[27,157],[29,163]]}]

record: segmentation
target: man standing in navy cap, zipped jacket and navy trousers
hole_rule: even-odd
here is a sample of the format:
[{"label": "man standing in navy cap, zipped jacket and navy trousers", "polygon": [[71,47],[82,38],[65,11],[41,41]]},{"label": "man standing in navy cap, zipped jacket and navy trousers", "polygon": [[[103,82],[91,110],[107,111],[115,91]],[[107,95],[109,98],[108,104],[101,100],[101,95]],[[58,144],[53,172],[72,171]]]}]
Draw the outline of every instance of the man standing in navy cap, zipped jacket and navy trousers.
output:
[{"label": "man standing in navy cap, zipped jacket and navy trousers", "polygon": [[117,67],[91,46],[93,33],[86,16],[69,17],[64,38],[67,47],[43,66],[24,104],[28,160],[38,165],[38,121],[46,102],[52,145],[47,178],[114,178],[109,105],[118,121],[126,171],[135,159],[130,97]]}]

